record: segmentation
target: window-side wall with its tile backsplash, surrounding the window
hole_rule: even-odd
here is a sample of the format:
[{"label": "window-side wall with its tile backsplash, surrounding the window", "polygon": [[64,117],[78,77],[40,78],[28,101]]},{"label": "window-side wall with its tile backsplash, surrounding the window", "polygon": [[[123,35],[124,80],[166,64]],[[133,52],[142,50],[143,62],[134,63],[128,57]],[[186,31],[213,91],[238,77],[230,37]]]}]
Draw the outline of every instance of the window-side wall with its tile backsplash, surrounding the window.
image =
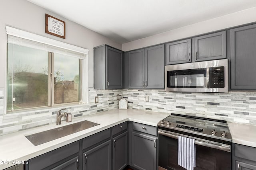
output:
[{"label": "window-side wall with its tile backsplash, surrounding the window", "polygon": [[[66,22],[66,39],[45,33],[45,14],[54,16]],[[89,16],[85,16],[89,17]],[[77,23],[67,20],[44,8],[36,6],[26,0],[1,0],[0,5],[0,135],[12,133],[28,128],[38,127],[56,122],[56,111],[59,108],[41,109],[22,113],[4,114],[6,100],[6,70],[7,70],[7,37],[6,25],[30,33],[42,35],[51,39],[62,41],[71,45],[86,48],[88,55],[88,86],[93,87],[93,47],[102,44],[121,49],[122,45],[103,35]],[[70,107],[74,117],[98,113],[118,107],[118,102],[113,97],[122,94],[118,90],[93,90],[89,88],[89,104]],[[94,104],[94,96],[99,95],[99,104]]]}]

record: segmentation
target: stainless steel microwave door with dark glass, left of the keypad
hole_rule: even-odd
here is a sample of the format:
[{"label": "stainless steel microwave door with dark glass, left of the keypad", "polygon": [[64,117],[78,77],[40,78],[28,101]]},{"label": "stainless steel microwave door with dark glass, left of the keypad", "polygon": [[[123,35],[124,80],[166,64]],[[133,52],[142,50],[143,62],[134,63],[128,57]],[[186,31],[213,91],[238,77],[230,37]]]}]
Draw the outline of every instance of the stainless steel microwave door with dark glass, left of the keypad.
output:
[{"label": "stainless steel microwave door with dark glass, left of the keypad", "polygon": [[169,92],[212,92],[212,61],[165,66],[165,90]]}]

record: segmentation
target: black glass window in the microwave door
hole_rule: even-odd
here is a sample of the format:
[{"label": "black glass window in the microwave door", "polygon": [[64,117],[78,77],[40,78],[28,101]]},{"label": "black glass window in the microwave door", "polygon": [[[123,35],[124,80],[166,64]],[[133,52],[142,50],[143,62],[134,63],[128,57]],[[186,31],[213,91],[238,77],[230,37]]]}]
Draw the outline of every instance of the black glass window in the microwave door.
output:
[{"label": "black glass window in the microwave door", "polygon": [[168,88],[208,88],[207,68],[167,71]]}]

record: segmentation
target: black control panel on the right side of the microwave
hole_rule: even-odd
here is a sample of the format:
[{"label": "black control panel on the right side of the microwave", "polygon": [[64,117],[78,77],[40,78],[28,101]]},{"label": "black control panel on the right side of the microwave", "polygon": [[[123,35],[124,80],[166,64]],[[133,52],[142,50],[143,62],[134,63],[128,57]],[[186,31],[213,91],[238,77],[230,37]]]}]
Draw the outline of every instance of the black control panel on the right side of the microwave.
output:
[{"label": "black control panel on the right side of the microwave", "polygon": [[225,87],[224,66],[210,68],[210,88]]}]

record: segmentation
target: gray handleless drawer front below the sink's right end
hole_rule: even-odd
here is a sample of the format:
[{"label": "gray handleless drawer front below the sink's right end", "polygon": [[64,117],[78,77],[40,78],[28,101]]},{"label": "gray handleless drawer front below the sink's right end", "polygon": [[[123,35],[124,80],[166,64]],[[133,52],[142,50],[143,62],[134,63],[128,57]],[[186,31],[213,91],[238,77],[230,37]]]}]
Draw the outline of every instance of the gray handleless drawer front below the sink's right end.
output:
[{"label": "gray handleless drawer front below the sink's right end", "polygon": [[110,139],[110,136],[111,136],[110,128],[104,131],[101,131],[99,133],[96,133],[94,135],[88,136],[83,139],[83,142],[82,142],[83,149],[91,147],[97,143],[103,142],[106,139]]}]

